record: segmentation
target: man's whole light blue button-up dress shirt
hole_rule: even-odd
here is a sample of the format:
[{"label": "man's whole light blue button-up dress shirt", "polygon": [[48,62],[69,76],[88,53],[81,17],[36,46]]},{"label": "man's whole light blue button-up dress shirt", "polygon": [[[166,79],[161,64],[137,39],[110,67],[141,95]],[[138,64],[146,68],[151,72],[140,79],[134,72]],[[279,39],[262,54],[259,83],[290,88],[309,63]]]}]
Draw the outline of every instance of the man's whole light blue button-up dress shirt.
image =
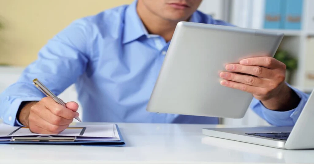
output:
[{"label": "man's whole light blue button-up dress shirt", "polygon": [[[38,78],[57,95],[75,83],[83,121],[217,124],[218,118],[213,117],[146,111],[169,42],[148,34],[136,4],[134,1],[78,19],[49,40],[39,51],[38,59],[1,94],[3,121],[21,125],[16,120],[20,103],[39,101],[45,96],[32,84]],[[193,13],[190,21],[231,25],[199,11]],[[301,98],[296,109],[271,111],[256,99],[251,107],[270,124],[293,125],[308,98],[296,92]]]}]

